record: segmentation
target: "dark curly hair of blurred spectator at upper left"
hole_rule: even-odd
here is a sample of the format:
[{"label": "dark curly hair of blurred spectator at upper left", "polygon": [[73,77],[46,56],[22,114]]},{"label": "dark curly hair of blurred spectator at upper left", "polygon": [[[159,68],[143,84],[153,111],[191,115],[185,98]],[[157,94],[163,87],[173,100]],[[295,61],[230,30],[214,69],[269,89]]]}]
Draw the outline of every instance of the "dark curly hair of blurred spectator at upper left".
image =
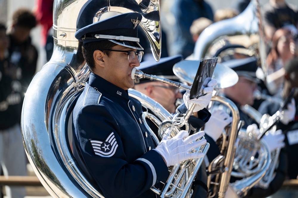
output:
[{"label": "dark curly hair of blurred spectator at upper left", "polygon": [[32,29],[36,26],[36,18],[29,9],[20,8],[13,13],[13,24]]}]

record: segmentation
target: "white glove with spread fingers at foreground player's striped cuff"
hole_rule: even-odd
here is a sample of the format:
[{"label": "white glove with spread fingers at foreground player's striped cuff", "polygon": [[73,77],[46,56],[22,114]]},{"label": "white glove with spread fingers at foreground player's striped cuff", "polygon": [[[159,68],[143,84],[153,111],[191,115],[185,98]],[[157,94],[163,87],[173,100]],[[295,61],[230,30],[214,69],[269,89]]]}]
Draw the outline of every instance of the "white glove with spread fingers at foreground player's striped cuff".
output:
[{"label": "white glove with spread fingers at foreground player's striped cuff", "polygon": [[206,143],[205,139],[193,142],[203,137],[204,134],[204,132],[198,132],[189,136],[187,131],[182,130],[172,139],[168,139],[167,135],[163,135],[162,141],[155,150],[164,158],[168,167],[186,159],[201,158],[204,157],[204,153],[187,152]]}]

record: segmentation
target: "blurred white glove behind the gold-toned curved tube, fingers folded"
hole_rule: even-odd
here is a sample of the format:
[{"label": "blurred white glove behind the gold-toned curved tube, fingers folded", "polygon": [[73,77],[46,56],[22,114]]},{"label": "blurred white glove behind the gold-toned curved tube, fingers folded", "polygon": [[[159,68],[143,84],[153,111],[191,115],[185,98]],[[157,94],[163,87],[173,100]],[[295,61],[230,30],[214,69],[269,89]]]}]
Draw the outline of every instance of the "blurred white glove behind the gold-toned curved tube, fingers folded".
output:
[{"label": "blurred white glove behind the gold-toned curved tube, fingers folded", "polygon": [[209,121],[204,126],[204,132],[215,142],[221,136],[224,128],[233,120],[224,110],[216,110],[211,114]]}]

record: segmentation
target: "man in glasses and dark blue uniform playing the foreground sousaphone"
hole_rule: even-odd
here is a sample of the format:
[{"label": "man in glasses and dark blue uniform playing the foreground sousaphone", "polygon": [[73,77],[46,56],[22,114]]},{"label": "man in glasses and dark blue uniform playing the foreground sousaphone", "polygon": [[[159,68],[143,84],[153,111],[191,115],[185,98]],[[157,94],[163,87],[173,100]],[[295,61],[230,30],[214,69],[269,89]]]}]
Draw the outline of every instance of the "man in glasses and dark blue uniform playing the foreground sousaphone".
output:
[{"label": "man in glasses and dark blue uniform playing the foreground sousaphone", "polygon": [[[172,139],[164,135],[154,145],[141,117],[140,102],[128,96],[128,89],[134,86],[131,71],[140,65],[143,55],[137,37],[141,20],[139,13],[125,13],[75,34],[83,41],[90,76],[73,111],[73,153],[105,197],[156,197],[150,187],[167,179],[168,166],[204,157],[187,153],[206,143],[189,144],[204,132],[189,135],[180,131]],[[210,80],[205,96],[189,100],[196,104],[194,116],[211,100],[215,84],[216,80]]]}]

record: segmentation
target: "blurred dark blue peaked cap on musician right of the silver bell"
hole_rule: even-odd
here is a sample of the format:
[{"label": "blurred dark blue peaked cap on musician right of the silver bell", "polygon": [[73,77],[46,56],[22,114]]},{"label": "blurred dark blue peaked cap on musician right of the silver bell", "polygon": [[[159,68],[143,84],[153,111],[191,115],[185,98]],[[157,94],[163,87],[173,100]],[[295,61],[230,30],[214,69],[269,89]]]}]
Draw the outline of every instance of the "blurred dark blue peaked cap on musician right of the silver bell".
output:
[{"label": "blurred dark blue peaked cap on musician right of the silver bell", "polygon": [[257,82],[257,58],[255,56],[249,58],[232,59],[221,63],[233,69],[238,76],[246,77],[247,79]]}]

